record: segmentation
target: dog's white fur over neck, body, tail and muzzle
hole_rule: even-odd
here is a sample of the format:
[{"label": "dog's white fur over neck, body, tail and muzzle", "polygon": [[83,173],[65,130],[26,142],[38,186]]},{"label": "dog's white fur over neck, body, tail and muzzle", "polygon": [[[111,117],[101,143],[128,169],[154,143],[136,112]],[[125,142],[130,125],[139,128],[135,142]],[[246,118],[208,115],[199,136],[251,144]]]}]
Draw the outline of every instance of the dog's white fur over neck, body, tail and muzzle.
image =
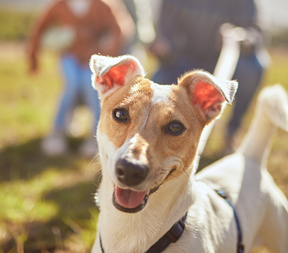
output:
[{"label": "dog's white fur over neck, body, tail and muzzle", "polygon": [[[165,101],[168,95],[166,88],[159,88],[162,90],[160,93],[154,84],[151,84],[151,88],[156,91],[154,102]],[[216,194],[215,189],[220,188],[226,190],[235,206],[245,252],[250,252],[256,245],[265,244],[277,253],[287,253],[288,201],[265,168],[267,155],[264,155],[268,153],[273,124],[285,128],[288,122],[285,122],[288,118],[287,100],[278,99],[283,97],[279,94],[283,90],[276,90],[273,88],[265,91],[268,95],[260,95],[254,123],[236,153],[211,164],[196,175],[195,167],[185,168],[187,174],[179,173],[164,181],[158,191],[149,196],[144,209],[135,214],[119,211],[111,201],[114,184],[118,184],[114,175],[115,163],[117,158],[128,152],[134,137],[129,137],[117,149],[109,141],[117,136],[105,136],[98,128],[103,180],[98,192],[100,215],[92,253],[101,253],[99,235],[105,253],[144,253],[187,210],[184,233],[163,253],[236,252],[234,214],[231,206]],[[231,90],[230,93],[233,92]],[[222,93],[227,96],[226,100],[232,101],[229,92]],[[271,104],[270,101],[274,102]],[[266,113],[274,111],[273,108],[279,113]],[[164,160],[167,168],[171,164],[181,164],[177,154]],[[156,179],[147,178],[145,181],[149,180]]]}]

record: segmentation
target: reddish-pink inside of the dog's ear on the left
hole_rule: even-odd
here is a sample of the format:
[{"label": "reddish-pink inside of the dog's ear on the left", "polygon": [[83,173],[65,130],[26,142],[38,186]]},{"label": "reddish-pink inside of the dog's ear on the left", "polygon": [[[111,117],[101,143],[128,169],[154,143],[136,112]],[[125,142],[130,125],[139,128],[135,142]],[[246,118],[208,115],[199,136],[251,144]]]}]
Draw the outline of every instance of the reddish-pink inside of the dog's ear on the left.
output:
[{"label": "reddish-pink inside of the dog's ear on the left", "polygon": [[132,61],[129,64],[123,64],[111,68],[104,76],[97,76],[97,82],[99,84],[108,86],[109,89],[113,88],[114,85],[123,86],[125,84],[125,77],[129,70],[134,72],[136,64]]}]

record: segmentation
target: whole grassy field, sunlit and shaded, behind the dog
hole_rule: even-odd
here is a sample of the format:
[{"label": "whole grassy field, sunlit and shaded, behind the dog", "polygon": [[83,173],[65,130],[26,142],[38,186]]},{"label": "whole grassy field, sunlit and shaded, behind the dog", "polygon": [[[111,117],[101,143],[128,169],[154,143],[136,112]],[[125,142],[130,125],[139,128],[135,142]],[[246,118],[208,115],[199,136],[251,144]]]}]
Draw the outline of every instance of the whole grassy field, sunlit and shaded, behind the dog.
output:
[{"label": "whole grassy field, sunlit and shaded, behind the dog", "polygon": [[[282,83],[288,90],[288,50],[270,51],[272,64],[261,87]],[[43,52],[40,72],[27,74],[23,43],[0,43],[0,253],[90,252],[98,210],[93,194],[99,165],[81,158],[83,137],[70,137],[70,152],[49,158],[40,142],[49,132],[61,90],[57,56]],[[252,117],[252,103],[238,134]],[[215,160],[230,108],[217,123],[205,159]],[[268,168],[288,196],[288,133],[278,130]],[[265,252],[257,250],[255,252]]]}]

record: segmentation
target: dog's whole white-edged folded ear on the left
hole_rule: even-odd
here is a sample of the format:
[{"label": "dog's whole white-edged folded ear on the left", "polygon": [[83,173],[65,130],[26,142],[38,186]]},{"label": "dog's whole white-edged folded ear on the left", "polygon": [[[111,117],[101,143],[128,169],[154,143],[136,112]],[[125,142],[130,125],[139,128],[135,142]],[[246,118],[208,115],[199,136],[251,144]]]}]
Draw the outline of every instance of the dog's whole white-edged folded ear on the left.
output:
[{"label": "dog's whole white-edged folded ear on the left", "polygon": [[131,55],[108,57],[94,54],[90,59],[92,86],[103,100],[137,75],[144,76],[140,62]]}]

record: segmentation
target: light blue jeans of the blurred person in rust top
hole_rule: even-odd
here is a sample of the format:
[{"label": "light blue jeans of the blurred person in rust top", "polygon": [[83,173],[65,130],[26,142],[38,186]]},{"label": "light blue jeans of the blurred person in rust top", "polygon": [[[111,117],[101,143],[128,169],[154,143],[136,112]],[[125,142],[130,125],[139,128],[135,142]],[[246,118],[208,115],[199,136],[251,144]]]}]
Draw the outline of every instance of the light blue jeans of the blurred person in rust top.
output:
[{"label": "light blue jeans of the blurred person in rust top", "polygon": [[55,119],[54,129],[60,131],[65,130],[67,114],[81,96],[93,114],[93,126],[95,126],[93,127],[93,132],[95,133],[100,117],[100,102],[97,91],[91,86],[91,71],[89,66],[81,65],[71,54],[62,55],[60,64],[65,89]]}]

